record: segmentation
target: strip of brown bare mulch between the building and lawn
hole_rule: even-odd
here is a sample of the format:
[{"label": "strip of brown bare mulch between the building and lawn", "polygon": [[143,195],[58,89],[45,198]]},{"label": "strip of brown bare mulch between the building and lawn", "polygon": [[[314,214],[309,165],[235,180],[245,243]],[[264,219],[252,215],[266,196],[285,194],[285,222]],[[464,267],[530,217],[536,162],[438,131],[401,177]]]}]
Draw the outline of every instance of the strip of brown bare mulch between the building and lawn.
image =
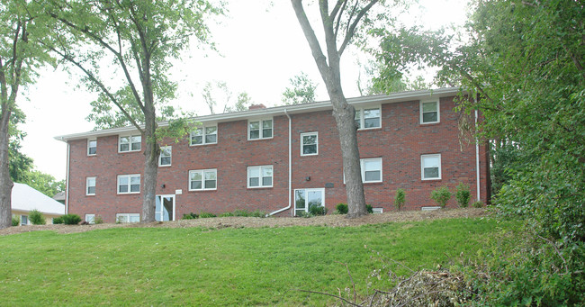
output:
[{"label": "strip of brown bare mulch between the building and lawn", "polygon": [[452,218],[474,218],[487,215],[488,212],[481,208],[467,209],[442,209],[436,211],[408,211],[388,212],[382,214],[369,214],[358,219],[347,219],[345,215],[330,214],[313,218],[243,218],[224,217],[197,220],[165,221],[152,223],[132,224],[97,224],[97,225],[29,225],[9,227],[0,230],[0,236],[15,233],[23,233],[38,230],[53,230],[58,233],[75,233],[90,230],[105,230],[110,228],[262,228],[262,227],[291,227],[291,226],[329,226],[347,227],[366,224],[381,224],[392,221],[424,221]]}]

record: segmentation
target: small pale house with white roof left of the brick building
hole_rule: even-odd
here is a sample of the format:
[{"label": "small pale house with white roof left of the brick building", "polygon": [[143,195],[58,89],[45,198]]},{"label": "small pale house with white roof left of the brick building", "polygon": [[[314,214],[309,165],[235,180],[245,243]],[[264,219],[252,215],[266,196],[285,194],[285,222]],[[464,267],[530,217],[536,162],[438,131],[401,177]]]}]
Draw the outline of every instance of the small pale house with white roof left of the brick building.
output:
[{"label": "small pale house with white roof left of the brick building", "polygon": [[12,213],[19,217],[21,225],[29,225],[29,213],[38,210],[45,216],[48,224],[53,223],[53,218],[65,214],[65,205],[31,188],[29,185],[16,184],[12,193]]}]

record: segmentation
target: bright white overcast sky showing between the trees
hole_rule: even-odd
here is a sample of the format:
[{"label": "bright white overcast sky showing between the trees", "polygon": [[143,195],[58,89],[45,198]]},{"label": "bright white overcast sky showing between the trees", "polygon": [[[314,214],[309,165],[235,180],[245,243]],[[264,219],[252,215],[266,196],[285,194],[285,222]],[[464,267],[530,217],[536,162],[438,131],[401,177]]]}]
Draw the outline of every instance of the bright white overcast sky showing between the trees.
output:
[{"label": "bright white overcast sky showing between the trees", "polygon": [[[468,0],[419,2],[423,8],[413,5],[405,23],[422,23],[432,30],[464,23]],[[313,24],[318,35],[319,26]],[[229,16],[213,25],[211,34],[221,56],[212,51],[188,50],[171,72],[179,83],[175,104],[183,110],[209,113],[201,96],[206,81],[225,81],[234,95],[245,91],[255,103],[277,105],[290,86],[289,79],[301,72],[319,84],[317,100],[329,100],[289,1],[230,1]],[[347,50],[341,59],[347,97],[359,95],[356,63],[360,57],[364,56],[356,50]],[[27,116],[21,125],[28,134],[22,142],[23,153],[34,159],[37,169],[58,180],[66,176],[67,145],[53,137],[94,127],[85,117],[96,95],[77,84],[76,77],[69,77],[60,68],[47,68],[40,72],[35,85],[23,90],[18,101]]]}]

